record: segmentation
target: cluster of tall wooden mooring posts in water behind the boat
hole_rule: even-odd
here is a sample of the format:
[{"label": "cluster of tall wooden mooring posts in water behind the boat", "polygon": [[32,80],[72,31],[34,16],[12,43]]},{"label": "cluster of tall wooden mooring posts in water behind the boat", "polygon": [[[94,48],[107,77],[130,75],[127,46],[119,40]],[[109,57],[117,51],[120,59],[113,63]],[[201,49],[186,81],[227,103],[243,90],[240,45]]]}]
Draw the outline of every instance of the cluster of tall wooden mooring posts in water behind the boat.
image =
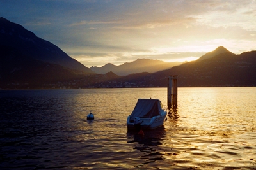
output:
[{"label": "cluster of tall wooden mooring posts in water behind the boat", "polygon": [[168,108],[177,108],[178,105],[178,86],[177,76],[168,77],[168,89],[167,89],[167,104]]}]

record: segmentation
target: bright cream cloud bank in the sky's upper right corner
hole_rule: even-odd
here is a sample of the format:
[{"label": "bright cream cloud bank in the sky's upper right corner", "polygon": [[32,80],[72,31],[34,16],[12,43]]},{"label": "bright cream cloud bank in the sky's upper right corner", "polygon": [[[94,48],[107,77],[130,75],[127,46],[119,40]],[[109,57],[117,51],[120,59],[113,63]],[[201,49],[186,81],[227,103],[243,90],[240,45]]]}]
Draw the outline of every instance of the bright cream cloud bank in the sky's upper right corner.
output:
[{"label": "bright cream cloud bank in the sky's upper right corner", "polygon": [[189,15],[197,18],[196,22],[199,25],[256,30],[256,3],[252,1],[193,1],[193,4],[207,9],[207,11]]}]

